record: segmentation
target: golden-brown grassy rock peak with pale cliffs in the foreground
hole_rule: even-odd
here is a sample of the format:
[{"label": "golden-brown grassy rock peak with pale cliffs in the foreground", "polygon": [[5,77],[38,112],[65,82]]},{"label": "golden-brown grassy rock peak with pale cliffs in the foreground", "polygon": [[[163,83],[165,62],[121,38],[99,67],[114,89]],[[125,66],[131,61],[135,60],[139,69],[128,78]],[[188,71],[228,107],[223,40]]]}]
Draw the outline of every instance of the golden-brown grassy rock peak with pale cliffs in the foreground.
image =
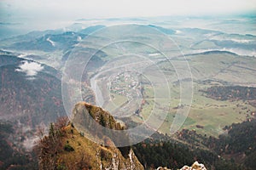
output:
[{"label": "golden-brown grassy rock peak with pale cliffs in the foreground", "polygon": [[[87,112],[84,112],[84,109]],[[84,117],[81,115],[90,114],[96,122],[102,123],[101,120],[104,120],[106,127],[119,128],[113,116],[94,105],[81,102],[75,105],[74,111],[77,116],[74,120]],[[111,146],[97,144],[87,139],[85,133],[79,132],[73,123],[61,128],[57,125],[56,122],[55,127],[50,127],[49,136],[42,139],[40,169],[144,169],[130,147],[117,148],[114,143]]]}]

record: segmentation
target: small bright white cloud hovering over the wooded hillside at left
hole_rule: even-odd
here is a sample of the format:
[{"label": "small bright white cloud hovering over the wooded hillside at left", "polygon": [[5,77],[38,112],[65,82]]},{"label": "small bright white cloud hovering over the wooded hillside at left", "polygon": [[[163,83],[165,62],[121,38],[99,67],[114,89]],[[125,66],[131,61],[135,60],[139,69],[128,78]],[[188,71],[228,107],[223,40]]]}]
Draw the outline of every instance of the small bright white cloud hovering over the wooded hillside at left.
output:
[{"label": "small bright white cloud hovering over the wooded hillside at left", "polygon": [[19,65],[20,68],[15,71],[25,72],[27,77],[34,77],[38,74],[38,71],[42,71],[44,66],[36,62],[25,61]]}]

